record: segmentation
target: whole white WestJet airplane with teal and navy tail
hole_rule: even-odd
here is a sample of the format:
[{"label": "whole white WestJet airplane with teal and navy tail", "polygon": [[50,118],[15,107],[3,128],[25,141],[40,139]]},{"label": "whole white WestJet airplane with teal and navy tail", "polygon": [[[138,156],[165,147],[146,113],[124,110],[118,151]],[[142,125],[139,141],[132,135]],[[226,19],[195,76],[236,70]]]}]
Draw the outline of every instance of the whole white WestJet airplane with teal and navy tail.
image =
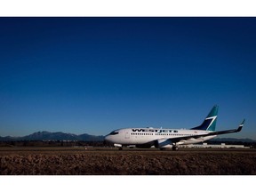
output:
[{"label": "whole white WestJet airplane with teal and navy tail", "polygon": [[123,128],[110,132],[105,141],[113,143],[116,148],[135,146],[136,148],[172,148],[178,150],[180,145],[188,145],[211,140],[220,134],[240,132],[245,119],[237,129],[215,132],[218,106],[215,105],[204,122],[191,129],[163,129],[163,128]]}]

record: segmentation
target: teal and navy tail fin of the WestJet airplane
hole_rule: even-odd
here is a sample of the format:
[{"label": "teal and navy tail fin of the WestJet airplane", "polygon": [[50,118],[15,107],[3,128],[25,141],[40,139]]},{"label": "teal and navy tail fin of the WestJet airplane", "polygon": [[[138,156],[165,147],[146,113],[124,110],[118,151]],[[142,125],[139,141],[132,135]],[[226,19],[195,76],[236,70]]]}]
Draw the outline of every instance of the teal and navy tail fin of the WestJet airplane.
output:
[{"label": "teal and navy tail fin of the WestJet airplane", "polygon": [[206,130],[206,131],[215,131],[215,126],[217,122],[217,115],[218,115],[218,106],[215,105],[208,116],[204,119],[203,124],[200,126],[194,127],[191,130]]}]

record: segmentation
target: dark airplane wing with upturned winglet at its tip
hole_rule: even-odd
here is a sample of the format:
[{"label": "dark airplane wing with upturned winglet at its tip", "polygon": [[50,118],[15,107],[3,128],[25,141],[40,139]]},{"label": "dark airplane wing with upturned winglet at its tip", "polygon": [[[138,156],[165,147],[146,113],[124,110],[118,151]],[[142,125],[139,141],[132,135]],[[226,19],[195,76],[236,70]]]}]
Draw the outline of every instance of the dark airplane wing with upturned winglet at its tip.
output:
[{"label": "dark airplane wing with upturned winglet at its tip", "polygon": [[220,132],[209,132],[207,134],[200,134],[200,135],[194,135],[194,136],[185,136],[185,137],[173,138],[173,139],[169,139],[169,140],[171,140],[172,143],[176,143],[176,142],[179,142],[180,140],[189,140],[189,139],[192,139],[192,138],[198,139],[198,138],[205,137],[205,136],[210,136],[210,135],[220,135],[220,134],[227,134],[227,133],[233,133],[233,132],[241,132],[241,130],[242,130],[243,126],[244,126],[244,122],[245,122],[245,119],[238,126],[237,129],[220,131]]}]

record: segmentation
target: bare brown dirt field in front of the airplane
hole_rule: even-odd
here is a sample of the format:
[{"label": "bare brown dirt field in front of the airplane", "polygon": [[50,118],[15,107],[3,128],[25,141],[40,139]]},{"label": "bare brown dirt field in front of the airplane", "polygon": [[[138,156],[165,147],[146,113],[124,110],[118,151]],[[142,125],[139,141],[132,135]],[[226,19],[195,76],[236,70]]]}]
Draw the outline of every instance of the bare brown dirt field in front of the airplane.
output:
[{"label": "bare brown dirt field in front of the airplane", "polygon": [[1,175],[255,175],[255,149],[0,148]]}]

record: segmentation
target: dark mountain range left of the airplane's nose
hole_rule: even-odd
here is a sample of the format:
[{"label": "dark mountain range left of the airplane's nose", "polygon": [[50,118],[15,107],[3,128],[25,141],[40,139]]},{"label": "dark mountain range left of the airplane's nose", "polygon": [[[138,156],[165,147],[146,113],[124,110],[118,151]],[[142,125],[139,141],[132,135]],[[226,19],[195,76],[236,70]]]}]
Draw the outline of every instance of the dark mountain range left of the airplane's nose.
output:
[{"label": "dark mountain range left of the airplane's nose", "polygon": [[0,140],[83,140],[83,141],[102,141],[104,136],[95,136],[90,134],[72,134],[65,132],[34,132],[23,137],[1,137]]}]

